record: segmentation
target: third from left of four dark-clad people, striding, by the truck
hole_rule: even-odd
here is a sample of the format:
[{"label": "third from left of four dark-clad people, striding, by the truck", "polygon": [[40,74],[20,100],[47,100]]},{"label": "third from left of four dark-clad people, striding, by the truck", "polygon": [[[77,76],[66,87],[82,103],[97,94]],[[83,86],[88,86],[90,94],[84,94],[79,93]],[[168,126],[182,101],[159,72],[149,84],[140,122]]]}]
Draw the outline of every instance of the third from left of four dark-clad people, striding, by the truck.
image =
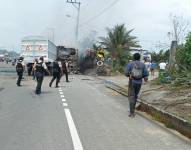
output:
[{"label": "third from left of four dark-clad people, striding, by the truck", "polygon": [[54,80],[56,79],[56,88],[58,87],[58,83],[60,81],[60,76],[61,76],[61,68],[58,64],[58,61],[54,61],[53,62],[53,77],[52,77],[52,80],[50,81],[49,83],[49,87],[52,86],[52,83],[54,82]]}]

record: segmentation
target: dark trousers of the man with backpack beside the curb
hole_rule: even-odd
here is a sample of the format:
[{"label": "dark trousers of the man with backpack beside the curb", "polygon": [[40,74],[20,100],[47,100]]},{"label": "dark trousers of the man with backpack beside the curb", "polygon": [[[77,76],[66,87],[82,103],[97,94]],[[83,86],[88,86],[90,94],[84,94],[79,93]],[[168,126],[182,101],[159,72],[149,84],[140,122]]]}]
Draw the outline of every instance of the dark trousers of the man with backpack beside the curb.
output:
[{"label": "dark trousers of the man with backpack beside the curb", "polygon": [[133,83],[131,79],[129,79],[129,89],[128,89],[128,99],[130,106],[130,114],[134,114],[135,106],[137,103],[138,94],[141,89],[141,84]]}]

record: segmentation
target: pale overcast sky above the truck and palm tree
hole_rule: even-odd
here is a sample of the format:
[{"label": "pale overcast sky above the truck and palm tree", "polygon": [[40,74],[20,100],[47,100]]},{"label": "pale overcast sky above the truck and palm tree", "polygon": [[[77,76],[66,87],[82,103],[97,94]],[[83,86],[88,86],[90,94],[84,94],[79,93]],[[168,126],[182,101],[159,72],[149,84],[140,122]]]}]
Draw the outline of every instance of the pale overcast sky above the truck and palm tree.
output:
[{"label": "pale overcast sky above the truck and palm tree", "polygon": [[[105,36],[106,27],[124,23],[128,30],[134,29],[132,35],[138,37],[142,48],[149,50],[155,50],[159,41],[169,42],[170,14],[188,21],[191,18],[191,0],[80,1],[80,39],[91,31],[96,31],[97,37]],[[76,16],[77,10],[66,0],[0,0],[0,47],[20,51],[24,36],[52,37],[53,30],[55,44],[72,46]]]}]

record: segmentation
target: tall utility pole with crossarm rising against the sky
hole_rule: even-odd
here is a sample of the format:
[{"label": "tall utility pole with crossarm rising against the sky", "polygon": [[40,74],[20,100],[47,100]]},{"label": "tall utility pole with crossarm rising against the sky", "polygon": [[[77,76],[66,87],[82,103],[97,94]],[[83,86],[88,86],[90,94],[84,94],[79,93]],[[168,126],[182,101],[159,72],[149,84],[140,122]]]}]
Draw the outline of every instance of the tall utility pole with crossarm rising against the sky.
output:
[{"label": "tall utility pole with crossarm rising against the sky", "polygon": [[75,32],[75,42],[78,43],[78,30],[79,30],[79,20],[80,20],[80,5],[81,2],[77,2],[76,0],[67,0],[67,3],[71,3],[78,11],[78,16],[76,20],[76,32]]}]

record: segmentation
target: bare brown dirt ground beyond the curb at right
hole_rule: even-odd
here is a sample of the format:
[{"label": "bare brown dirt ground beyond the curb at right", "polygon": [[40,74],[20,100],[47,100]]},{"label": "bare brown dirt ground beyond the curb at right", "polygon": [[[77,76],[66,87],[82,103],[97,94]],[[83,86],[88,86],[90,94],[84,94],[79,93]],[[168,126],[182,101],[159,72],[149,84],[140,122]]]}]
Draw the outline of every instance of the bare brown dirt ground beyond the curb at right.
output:
[{"label": "bare brown dirt ground beyond the curb at right", "polygon": [[143,87],[140,99],[191,122],[191,88],[150,82]]}]

